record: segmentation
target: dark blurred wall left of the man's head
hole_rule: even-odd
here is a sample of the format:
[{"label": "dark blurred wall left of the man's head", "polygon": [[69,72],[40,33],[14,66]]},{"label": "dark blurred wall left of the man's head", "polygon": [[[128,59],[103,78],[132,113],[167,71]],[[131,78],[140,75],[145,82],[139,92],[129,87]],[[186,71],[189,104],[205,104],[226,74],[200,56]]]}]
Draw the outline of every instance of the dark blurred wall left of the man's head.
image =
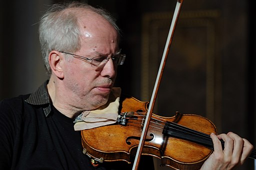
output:
[{"label": "dark blurred wall left of the man's head", "polygon": [[46,78],[37,29],[47,4],[47,0],[1,3],[0,99],[30,93]]}]

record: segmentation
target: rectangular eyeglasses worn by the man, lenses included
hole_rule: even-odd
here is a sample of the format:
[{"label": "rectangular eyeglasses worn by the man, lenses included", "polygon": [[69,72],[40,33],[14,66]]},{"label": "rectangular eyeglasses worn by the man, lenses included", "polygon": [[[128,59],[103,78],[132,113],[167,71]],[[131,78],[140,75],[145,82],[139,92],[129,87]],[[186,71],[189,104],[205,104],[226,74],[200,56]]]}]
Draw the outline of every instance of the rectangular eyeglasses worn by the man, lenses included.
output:
[{"label": "rectangular eyeglasses worn by the man, lenses included", "polygon": [[65,54],[70,54],[72,55],[74,58],[78,58],[81,59],[87,63],[90,63],[92,67],[100,67],[103,66],[104,64],[106,64],[106,62],[111,58],[113,63],[115,65],[122,65],[124,63],[124,59],[125,59],[125,54],[119,54],[119,52],[115,55],[112,55],[111,57],[108,56],[96,56],[96,57],[92,57],[92,58],[87,58],[87,57],[83,57],[80,55],[76,55],[76,54],[72,54],[72,53],[68,53],[68,52],[64,52],[64,51],[59,51]]}]

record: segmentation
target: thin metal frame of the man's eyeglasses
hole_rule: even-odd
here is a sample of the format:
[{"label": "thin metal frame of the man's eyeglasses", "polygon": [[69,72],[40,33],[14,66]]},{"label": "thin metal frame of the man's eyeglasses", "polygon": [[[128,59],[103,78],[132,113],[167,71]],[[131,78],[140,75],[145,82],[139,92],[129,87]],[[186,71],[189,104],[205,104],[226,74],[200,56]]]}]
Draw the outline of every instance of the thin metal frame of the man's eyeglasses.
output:
[{"label": "thin metal frame of the man's eyeglasses", "polygon": [[[59,52],[72,55],[72,57],[74,57],[74,58],[82,59],[83,61],[89,63],[92,67],[93,67],[93,66],[99,67],[100,65],[107,63],[107,61],[108,61],[110,58],[113,60],[113,63],[115,63],[114,61],[117,60],[116,65],[122,65],[122,64],[124,63],[124,60],[125,60],[126,55],[125,55],[125,54],[120,54],[120,51],[121,51],[121,50],[119,50],[119,51],[117,52],[117,54],[114,54],[114,55],[112,55],[112,56],[110,56],[110,57],[104,56],[104,55],[101,55],[101,54],[100,54],[101,56],[96,56],[96,57],[98,57],[99,59],[100,59],[100,58],[104,58],[101,62],[99,62],[98,65],[93,64],[93,61],[94,61],[94,62],[98,62],[98,61],[96,61],[95,59],[93,59],[93,58],[96,58],[96,57],[88,58],[88,57],[84,57],[84,56],[81,56],[81,55],[72,54],[72,53],[69,53],[69,52],[64,52],[64,51],[59,51]],[[117,59],[114,58],[114,56],[116,56],[116,55],[119,55],[119,57],[118,57]]]}]

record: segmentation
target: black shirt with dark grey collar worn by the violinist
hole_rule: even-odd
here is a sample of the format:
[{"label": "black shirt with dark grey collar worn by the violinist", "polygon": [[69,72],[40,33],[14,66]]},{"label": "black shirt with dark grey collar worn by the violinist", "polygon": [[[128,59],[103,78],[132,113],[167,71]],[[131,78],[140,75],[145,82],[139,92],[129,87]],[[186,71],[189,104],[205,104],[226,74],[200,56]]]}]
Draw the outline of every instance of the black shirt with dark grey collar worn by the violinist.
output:
[{"label": "black shirt with dark grey collar worn by the violinist", "polygon": [[73,119],[52,106],[46,85],[0,102],[0,170],[130,170],[125,162],[91,166]]}]

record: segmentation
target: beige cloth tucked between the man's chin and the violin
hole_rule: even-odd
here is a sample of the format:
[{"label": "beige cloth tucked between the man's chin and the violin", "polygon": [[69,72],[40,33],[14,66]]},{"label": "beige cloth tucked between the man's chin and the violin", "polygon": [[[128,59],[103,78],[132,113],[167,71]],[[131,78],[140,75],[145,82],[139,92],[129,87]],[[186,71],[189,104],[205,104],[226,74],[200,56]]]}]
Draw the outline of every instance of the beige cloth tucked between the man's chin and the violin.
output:
[{"label": "beige cloth tucked between the man's chin and the violin", "polygon": [[117,120],[121,88],[113,87],[108,102],[96,110],[83,111],[74,124],[75,131],[113,124]]}]

